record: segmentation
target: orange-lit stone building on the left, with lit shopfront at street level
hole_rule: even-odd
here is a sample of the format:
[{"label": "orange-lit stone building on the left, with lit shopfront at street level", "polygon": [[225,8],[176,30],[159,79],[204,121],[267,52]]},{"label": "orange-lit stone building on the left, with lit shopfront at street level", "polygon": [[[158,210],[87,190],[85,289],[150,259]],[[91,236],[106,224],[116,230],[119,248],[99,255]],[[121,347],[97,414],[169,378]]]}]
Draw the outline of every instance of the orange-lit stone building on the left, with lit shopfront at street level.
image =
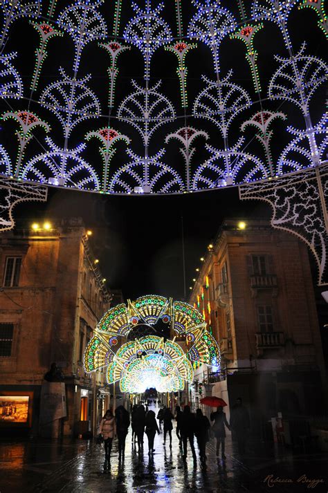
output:
[{"label": "orange-lit stone building on the left, with lit shopfront at street level", "polygon": [[16,423],[14,416],[6,416],[0,419],[1,427],[41,433],[42,386],[53,362],[64,375],[58,435],[93,433],[109,404],[105,374],[87,375],[82,363],[93,329],[111,302],[90,234],[80,218],[24,224],[0,234],[3,414],[10,399],[28,398],[28,419]]}]

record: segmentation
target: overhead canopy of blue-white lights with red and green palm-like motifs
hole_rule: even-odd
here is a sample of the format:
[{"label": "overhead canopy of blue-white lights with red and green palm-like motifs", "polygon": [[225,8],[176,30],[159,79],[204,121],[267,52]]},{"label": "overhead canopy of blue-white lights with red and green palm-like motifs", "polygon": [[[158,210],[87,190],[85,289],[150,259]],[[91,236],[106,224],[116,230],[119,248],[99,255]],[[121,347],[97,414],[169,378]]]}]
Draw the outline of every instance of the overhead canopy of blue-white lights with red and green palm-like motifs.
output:
[{"label": "overhead canopy of blue-white lights with red and green palm-like motifs", "polygon": [[[0,3],[0,175],[104,194],[170,194],[274,179],[325,160],[327,65],[306,43],[316,23],[316,46],[327,35],[323,0]],[[303,44],[290,34],[296,14]],[[24,57],[34,57],[30,74]],[[128,84],[120,73],[131,63],[136,80]],[[190,63],[199,73],[189,80]],[[174,72],[175,86],[166,84]]]}]

